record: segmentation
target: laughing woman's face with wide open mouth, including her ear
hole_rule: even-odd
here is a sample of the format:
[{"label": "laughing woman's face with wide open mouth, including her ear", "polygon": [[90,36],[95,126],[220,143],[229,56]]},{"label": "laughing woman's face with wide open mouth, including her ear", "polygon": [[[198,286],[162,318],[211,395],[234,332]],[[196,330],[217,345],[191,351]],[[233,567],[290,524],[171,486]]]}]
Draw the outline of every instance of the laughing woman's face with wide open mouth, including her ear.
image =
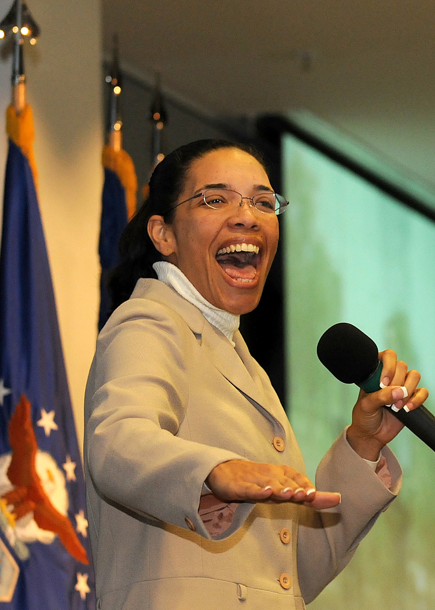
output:
[{"label": "laughing woman's face with wide open mouth, including her ear", "polygon": [[[272,190],[260,163],[238,148],[221,148],[193,161],[176,203],[210,185],[244,197]],[[171,224],[157,216],[149,223],[150,237],[165,259],[179,267],[209,303],[233,314],[246,314],[257,306],[278,245],[277,216],[249,203],[244,199],[236,209],[215,210],[199,197],[177,207]],[[222,253],[242,244],[253,248]]]}]

